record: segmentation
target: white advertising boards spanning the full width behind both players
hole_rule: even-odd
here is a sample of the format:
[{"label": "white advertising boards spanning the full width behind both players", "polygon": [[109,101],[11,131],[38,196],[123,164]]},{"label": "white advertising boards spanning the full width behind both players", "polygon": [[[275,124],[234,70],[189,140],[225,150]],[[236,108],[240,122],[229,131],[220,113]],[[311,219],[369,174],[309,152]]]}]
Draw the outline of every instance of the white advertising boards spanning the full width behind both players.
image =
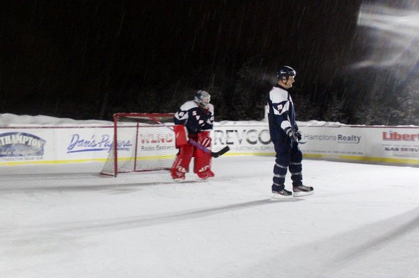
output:
[{"label": "white advertising boards spanning the full width behind both players", "polygon": [[[300,124],[305,158],[419,165],[418,126],[346,126]],[[120,156],[167,156],[177,153],[173,131],[155,128],[118,136]],[[139,140],[134,140],[138,136]],[[267,122],[220,122],[212,131],[214,152],[274,156]],[[0,165],[105,162],[113,144],[112,126],[29,126],[0,128]]]}]

